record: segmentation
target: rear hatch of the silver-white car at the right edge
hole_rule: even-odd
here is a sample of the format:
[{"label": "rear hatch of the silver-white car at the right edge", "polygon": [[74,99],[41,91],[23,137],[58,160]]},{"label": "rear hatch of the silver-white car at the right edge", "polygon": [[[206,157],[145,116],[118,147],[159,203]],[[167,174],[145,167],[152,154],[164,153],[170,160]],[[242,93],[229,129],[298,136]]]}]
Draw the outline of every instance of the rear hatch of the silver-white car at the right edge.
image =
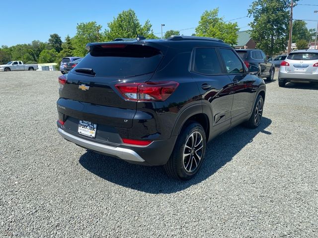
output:
[{"label": "rear hatch of the silver-white car at the right edge", "polygon": [[318,69],[318,52],[292,52],[285,60],[286,71],[289,73],[315,73]]}]

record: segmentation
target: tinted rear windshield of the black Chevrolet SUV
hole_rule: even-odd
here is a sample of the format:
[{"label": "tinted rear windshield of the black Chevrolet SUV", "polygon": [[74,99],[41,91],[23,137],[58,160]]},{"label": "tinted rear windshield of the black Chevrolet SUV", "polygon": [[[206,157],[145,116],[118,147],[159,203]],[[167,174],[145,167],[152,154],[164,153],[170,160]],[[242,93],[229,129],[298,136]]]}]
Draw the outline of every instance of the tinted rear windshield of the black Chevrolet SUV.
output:
[{"label": "tinted rear windshield of the black Chevrolet SUV", "polygon": [[77,68],[92,68],[97,76],[131,77],[154,72],[162,57],[158,49],[149,46],[98,45]]}]

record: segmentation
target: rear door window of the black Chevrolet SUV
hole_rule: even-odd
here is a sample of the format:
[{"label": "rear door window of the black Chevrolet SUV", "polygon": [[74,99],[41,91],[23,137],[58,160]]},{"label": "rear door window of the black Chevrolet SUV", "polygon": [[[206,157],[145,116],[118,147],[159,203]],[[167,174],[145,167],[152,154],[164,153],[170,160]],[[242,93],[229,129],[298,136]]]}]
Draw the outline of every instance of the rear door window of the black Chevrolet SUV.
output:
[{"label": "rear door window of the black Chevrolet SUV", "polygon": [[222,73],[221,64],[214,48],[197,48],[192,71],[201,74]]}]

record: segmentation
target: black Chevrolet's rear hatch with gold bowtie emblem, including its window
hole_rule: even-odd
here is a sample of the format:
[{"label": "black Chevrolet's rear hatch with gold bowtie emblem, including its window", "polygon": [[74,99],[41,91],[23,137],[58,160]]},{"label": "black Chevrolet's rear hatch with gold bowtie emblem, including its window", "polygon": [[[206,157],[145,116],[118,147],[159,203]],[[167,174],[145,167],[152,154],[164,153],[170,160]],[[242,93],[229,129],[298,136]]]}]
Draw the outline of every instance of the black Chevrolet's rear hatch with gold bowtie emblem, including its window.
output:
[{"label": "black Chevrolet's rear hatch with gold bowtie emblem, including its window", "polygon": [[132,127],[137,102],[126,101],[115,85],[149,81],[162,58],[159,49],[145,44],[90,46],[90,52],[67,75],[59,112],[92,123]]}]

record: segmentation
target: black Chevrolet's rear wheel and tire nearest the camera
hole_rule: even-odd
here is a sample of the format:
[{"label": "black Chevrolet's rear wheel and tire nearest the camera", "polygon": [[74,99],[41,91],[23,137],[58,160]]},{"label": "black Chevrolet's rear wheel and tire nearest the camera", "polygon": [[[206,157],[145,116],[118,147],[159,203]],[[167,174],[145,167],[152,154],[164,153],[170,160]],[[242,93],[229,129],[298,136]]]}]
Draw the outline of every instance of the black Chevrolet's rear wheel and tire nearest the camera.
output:
[{"label": "black Chevrolet's rear wheel and tire nearest the camera", "polygon": [[200,170],[205,149],[206,135],[202,125],[190,122],[179,134],[172,154],[163,166],[165,172],[174,179],[191,179]]}]

